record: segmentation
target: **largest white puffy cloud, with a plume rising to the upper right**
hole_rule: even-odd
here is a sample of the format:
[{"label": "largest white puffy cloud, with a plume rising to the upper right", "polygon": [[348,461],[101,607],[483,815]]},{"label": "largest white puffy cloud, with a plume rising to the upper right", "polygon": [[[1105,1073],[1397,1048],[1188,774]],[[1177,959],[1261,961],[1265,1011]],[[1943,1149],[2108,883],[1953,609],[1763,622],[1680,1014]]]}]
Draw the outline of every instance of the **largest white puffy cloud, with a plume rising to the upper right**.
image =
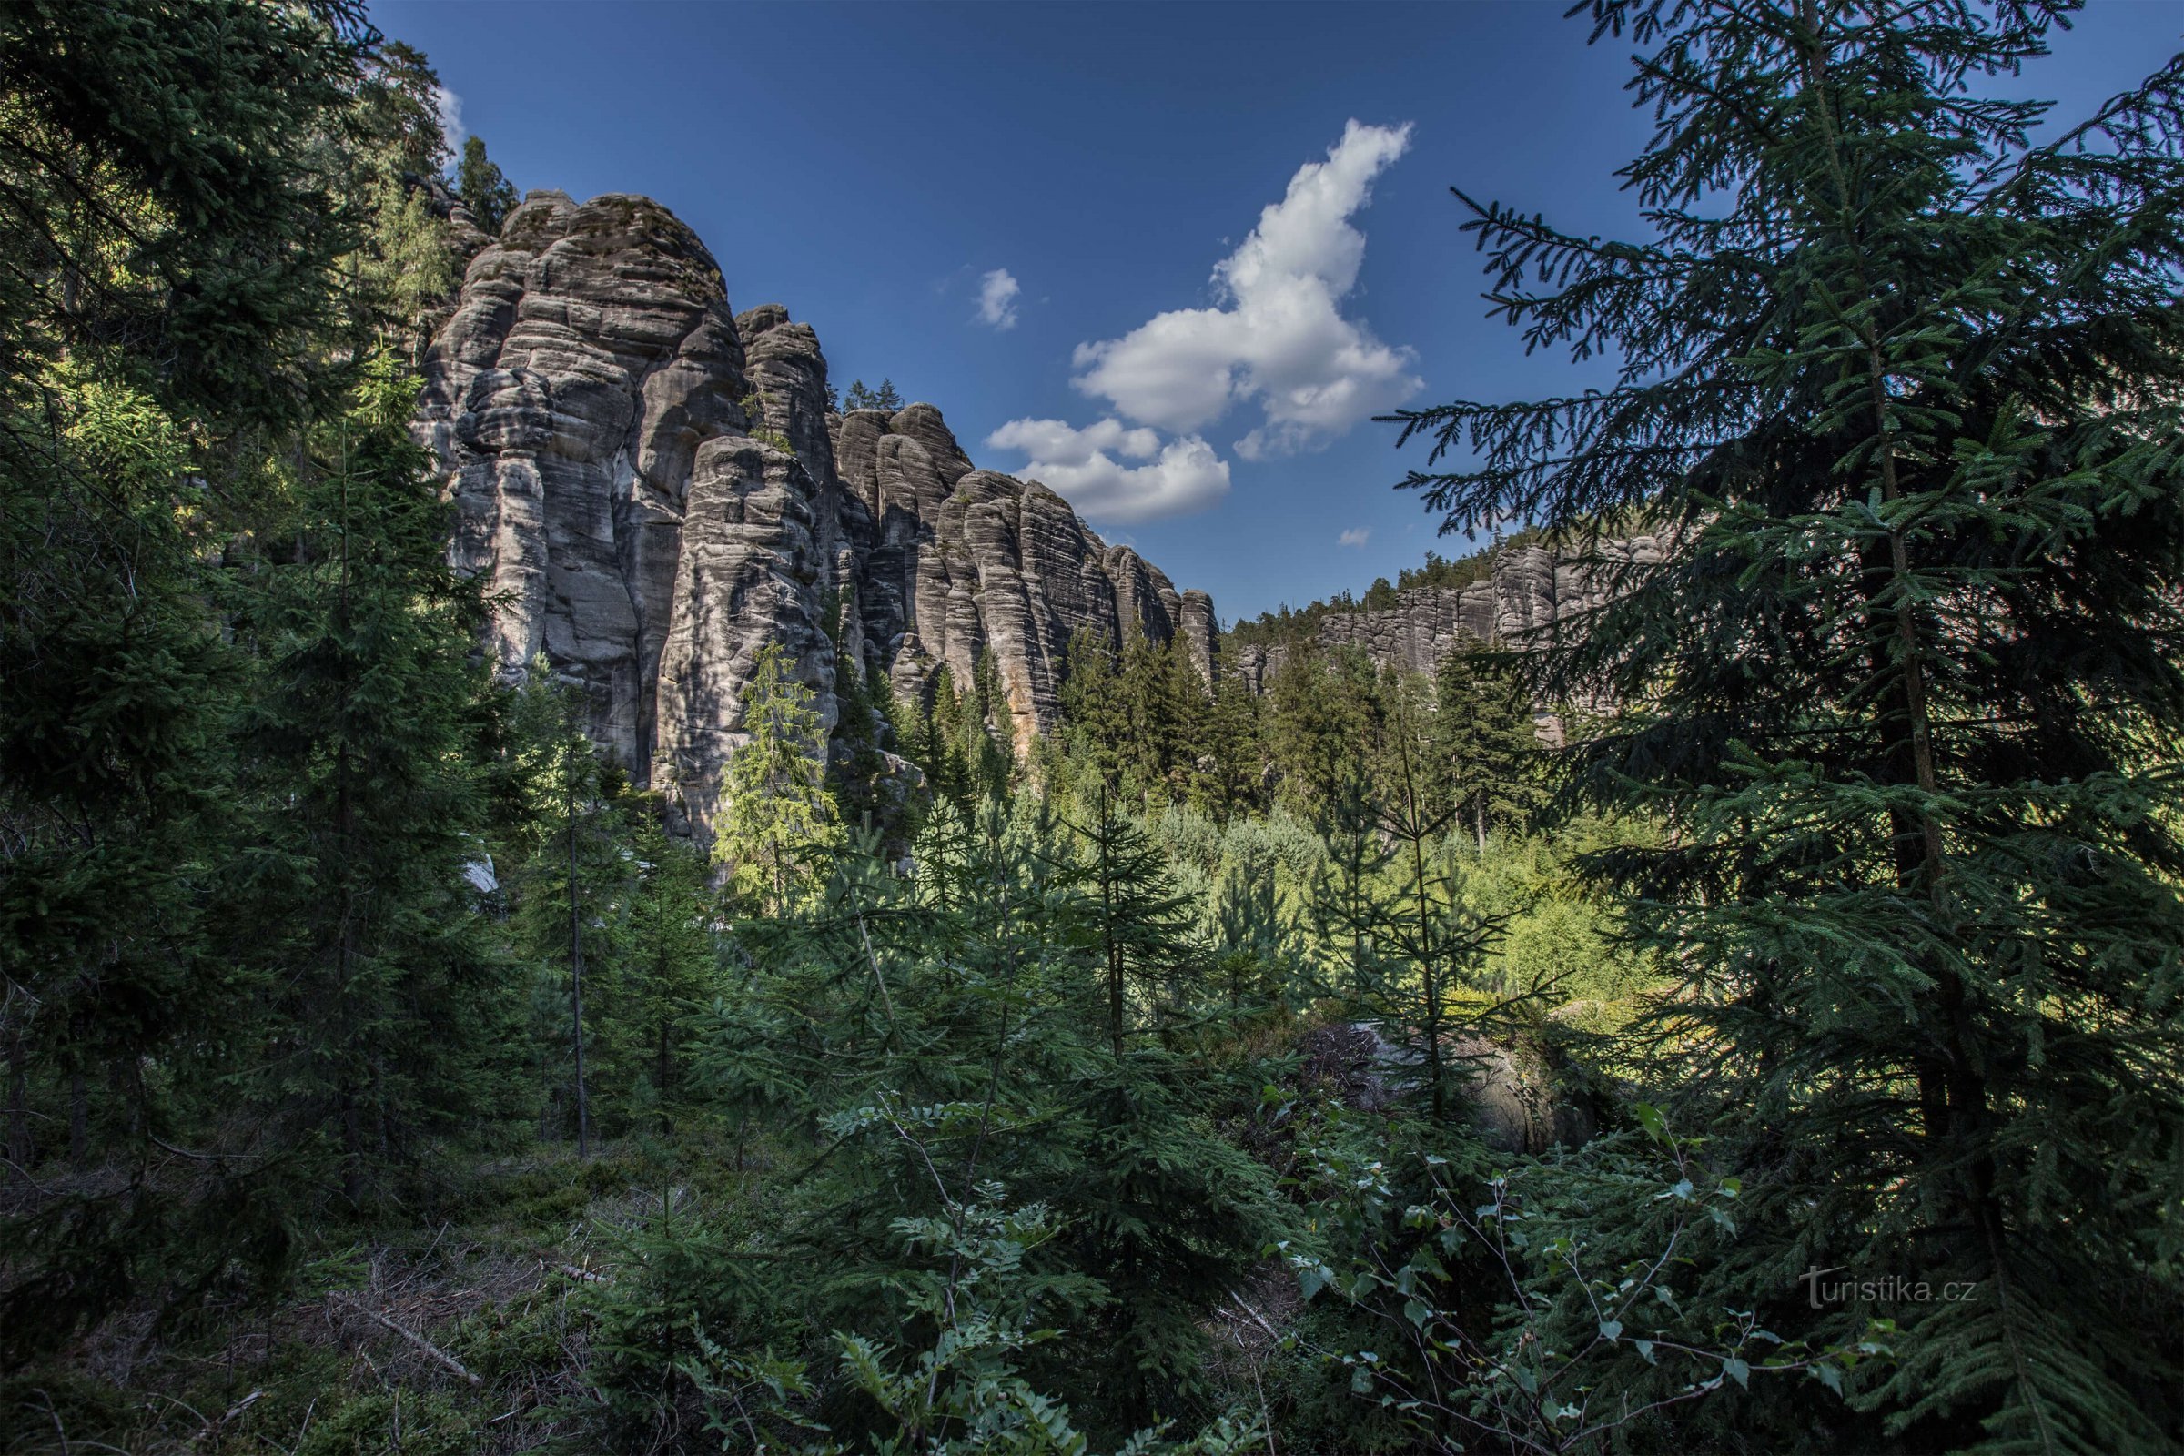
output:
[{"label": "largest white puffy cloud, with a plume rising to the upper right", "polygon": [[1413,351],[1345,319],[1365,234],[1352,214],[1411,146],[1411,127],[1352,120],[1326,162],[1306,162],[1258,227],[1214,266],[1216,308],[1155,314],[1120,338],[1077,345],[1077,389],[1171,432],[1203,430],[1234,402],[1262,421],[1236,452],[1289,454],[1393,408],[1422,386]]}]

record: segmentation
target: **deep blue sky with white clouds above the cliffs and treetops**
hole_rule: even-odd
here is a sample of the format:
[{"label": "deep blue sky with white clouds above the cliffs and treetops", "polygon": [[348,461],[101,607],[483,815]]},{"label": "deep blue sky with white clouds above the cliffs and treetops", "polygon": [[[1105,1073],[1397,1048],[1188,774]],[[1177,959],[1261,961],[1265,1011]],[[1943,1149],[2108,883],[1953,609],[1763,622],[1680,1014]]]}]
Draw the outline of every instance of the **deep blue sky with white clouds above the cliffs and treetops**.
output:
[{"label": "deep blue sky with white clouds above the cliffs and treetops", "polygon": [[[836,384],[893,378],[1223,620],[1363,592],[1437,522],[1365,415],[1605,375],[1485,319],[1448,186],[1634,231],[1627,46],[1559,0],[380,0],[518,188],[644,192]],[[2025,85],[2077,114],[2177,50],[2094,0]],[[1262,212],[1275,207],[1262,218]],[[1208,389],[1225,375],[1230,391]]]}]

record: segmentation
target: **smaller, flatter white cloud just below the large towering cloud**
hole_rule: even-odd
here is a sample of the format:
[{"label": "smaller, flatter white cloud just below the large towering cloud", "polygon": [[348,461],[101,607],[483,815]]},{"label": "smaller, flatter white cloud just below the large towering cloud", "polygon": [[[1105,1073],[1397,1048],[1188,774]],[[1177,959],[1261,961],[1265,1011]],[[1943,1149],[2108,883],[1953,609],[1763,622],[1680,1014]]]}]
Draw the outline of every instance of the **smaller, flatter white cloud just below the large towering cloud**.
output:
[{"label": "smaller, flatter white cloud just below the large towering cloud", "polygon": [[1153,430],[1116,419],[1083,430],[1059,419],[1011,419],[985,443],[1026,454],[1029,463],[1016,474],[1044,482],[1096,522],[1149,522],[1201,511],[1227,496],[1227,461],[1197,434],[1162,445]]}]

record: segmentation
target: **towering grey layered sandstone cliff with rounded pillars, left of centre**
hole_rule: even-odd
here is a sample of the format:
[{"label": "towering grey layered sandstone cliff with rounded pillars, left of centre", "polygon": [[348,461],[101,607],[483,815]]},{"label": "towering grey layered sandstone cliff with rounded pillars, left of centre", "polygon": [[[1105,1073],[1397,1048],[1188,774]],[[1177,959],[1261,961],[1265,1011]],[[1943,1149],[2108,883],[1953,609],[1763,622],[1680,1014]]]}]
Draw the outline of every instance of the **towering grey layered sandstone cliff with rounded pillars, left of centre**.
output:
[{"label": "towering grey layered sandstone cliff with rounded pillars, left of centre", "polygon": [[699,830],[769,642],[828,718],[845,661],[915,692],[992,651],[1020,744],[1081,626],[1184,633],[1212,672],[1203,592],[976,469],[930,404],[830,415],[812,330],[732,314],[705,244],[642,196],[509,216],[432,338],[417,430],[502,670],[579,683],[592,736]]}]

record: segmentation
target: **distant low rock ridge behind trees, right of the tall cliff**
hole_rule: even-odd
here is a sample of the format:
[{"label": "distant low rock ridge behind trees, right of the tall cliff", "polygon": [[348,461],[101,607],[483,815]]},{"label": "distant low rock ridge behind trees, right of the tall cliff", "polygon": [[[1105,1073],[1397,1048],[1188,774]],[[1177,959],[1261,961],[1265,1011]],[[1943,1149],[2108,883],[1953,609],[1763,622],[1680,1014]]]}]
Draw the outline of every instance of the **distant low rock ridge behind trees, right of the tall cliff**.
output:
[{"label": "distant low rock ridge behind trees, right of the tall cliff", "polygon": [[[1374,611],[1330,611],[1313,640],[1319,646],[1354,646],[1376,666],[1433,672],[1465,642],[1520,644],[1553,633],[1607,600],[1614,565],[1658,563],[1664,544],[1651,535],[1601,541],[1592,561],[1566,561],[1540,546],[1522,546],[1494,557],[1485,578],[1468,587],[1413,587],[1393,607]],[[1282,666],[1284,646],[1236,644],[1223,668],[1243,677],[1251,692]]]}]

